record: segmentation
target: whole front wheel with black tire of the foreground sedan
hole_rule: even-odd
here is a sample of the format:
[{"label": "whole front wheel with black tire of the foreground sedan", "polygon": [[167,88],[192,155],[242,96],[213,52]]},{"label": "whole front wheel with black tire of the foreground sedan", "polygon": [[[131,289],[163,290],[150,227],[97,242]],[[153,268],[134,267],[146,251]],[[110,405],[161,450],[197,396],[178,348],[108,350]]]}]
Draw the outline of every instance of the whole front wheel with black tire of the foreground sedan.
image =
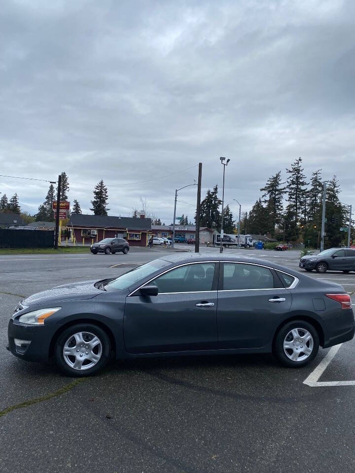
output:
[{"label": "whole front wheel with black tire of the foreground sedan", "polygon": [[[90,341],[94,338],[98,338],[99,343],[90,349]],[[67,355],[64,354],[65,347],[68,350]],[[83,355],[82,358],[76,355],[79,349],[80,354]],[[73,354],[70,354],[71,352]],[[87,356],[88,353],[89,356]],[[111,344],[106,332],[94,324],[72,325],[60,334],[54,348],[54,357],[59,369],[66,375],[75,377],[91,376],[103,370],[109,361],[110,353]],[[76,363],[78,363],[77,368],[73,368]],[[86,366],[88,368],[85,368]]]}]

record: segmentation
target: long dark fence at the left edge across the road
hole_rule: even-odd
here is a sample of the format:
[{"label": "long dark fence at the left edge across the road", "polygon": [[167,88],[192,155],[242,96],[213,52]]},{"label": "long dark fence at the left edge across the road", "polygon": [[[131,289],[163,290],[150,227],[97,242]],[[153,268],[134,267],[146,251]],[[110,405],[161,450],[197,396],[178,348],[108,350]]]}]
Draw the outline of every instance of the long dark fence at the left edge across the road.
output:
[{"label": "long dark fence at the left edge across the road", "polygon": [[0,229],[0,248],[53,248],[54,232]]}]

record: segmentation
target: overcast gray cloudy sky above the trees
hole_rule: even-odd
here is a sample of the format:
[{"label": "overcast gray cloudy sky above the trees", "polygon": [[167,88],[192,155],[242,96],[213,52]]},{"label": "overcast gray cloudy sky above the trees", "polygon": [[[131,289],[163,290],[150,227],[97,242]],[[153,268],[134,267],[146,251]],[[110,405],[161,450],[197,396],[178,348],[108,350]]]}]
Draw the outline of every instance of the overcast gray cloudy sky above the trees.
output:
[{"label": "overcast gray cloudy sky above the trees", "polygon": [[[204,197],[230,158],[237,214],[301,156],[355,204],[354,18],[354,0],[2,0],[0,173],[66,171],[83,213],[102,178],[110,215],[142,196],[170,224],[200,161]],[[48,185],[0,177],[31,213]],[[178,199],[193,220],[196,188]]]}]

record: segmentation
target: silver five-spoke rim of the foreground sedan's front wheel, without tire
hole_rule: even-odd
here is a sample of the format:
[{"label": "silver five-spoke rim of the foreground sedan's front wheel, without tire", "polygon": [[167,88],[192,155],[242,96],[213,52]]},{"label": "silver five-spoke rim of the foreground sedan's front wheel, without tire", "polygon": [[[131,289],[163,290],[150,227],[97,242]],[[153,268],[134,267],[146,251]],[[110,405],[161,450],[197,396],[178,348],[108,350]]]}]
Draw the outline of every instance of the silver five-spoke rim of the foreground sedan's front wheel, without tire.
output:
[{"label": "silver five-spoke rim of the foreground sedan's front wheel, without tire", "polygon": [[65,342],[63,357],[74,370],[89,370],[101,359],[103,352],[99,337],[90,332],[77,332]]}]

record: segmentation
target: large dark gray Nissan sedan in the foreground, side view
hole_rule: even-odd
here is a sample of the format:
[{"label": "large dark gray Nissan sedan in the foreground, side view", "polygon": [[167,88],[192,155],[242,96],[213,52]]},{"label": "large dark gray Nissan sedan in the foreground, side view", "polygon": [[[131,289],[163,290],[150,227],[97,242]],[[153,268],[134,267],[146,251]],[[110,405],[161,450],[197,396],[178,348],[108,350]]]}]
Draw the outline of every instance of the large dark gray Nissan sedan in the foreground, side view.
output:
[{"label": "large dark gray Nissan sedan in the foreground, side view", "polygon": [[167,255],[117,278],[59,286],[24,299],[8,349],[54,357],[70,376],[116,359],[270,353],[291,368],[319,346],[354,337],[350,296],[273,263],[230,255]]}]

